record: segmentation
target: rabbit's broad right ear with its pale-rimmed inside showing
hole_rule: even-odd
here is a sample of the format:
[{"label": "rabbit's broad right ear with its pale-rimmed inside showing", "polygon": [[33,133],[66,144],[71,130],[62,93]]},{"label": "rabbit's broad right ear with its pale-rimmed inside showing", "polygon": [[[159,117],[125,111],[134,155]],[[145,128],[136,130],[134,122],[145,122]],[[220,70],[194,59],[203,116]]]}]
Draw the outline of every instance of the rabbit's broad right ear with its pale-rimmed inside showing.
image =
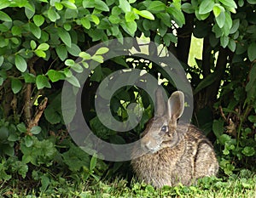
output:
[{"label": "rabbit's broad right ear with its pale-rimmed inside showing", "polygon": [[184,110],[184,94],[180,91],[172,93],[168,99],[168,116],[175,122],[183,115]]}]

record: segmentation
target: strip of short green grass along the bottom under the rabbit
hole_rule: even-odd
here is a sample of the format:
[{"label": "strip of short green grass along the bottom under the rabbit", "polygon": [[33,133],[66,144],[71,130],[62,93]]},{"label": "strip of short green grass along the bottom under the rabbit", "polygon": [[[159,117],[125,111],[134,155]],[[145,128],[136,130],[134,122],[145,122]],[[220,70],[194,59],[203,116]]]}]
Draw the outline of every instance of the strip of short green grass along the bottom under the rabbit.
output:
[{"label": "strip of short green grass along the bottom under the rabbit", "polygon": [[[40,184],[38,184],[40,186]],[[1,188],[2,187],[2,188]],[[0,185],[0,195],[5,197],[218,197],[218,198],[255,198],[256,175],[242,170],[238,175],[224,178],[202,178],[193,186],[165,186],[154,189],[151,185],[135,180],[129,185],[125,179],[113,182],[99,181],[95,184],[76,182],[51,181],[45,189],[41,186],[35,190]]]}]

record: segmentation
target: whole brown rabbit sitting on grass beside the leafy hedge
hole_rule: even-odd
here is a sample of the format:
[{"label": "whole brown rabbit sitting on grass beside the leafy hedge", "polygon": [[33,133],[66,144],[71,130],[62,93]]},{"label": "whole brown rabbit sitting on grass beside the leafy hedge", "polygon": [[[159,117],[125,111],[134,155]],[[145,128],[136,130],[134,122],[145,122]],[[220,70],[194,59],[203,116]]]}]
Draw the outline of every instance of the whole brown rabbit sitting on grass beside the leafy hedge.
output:
[{"label": "whole brown rabbit sitting on grass beside the leafy hedge", "polygon": [[211,142],[193,125],[177,124],[184,109],[184,95],[177,91],[167,108],[160,89],[155,93],[156,112],[148,122],[131,160],[137,177],[157,188],[164,185],[193,184],[197,178],[218,173]]}]

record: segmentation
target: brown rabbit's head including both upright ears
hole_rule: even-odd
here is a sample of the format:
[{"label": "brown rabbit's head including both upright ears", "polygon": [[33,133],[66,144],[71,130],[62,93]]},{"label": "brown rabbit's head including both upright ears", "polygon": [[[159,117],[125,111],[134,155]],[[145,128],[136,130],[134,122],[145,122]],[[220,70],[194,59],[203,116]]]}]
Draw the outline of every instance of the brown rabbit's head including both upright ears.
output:
[{"label": "brown rabbit's head including both upright ears", "polygon": [[146,152],[155,153],[165,147],[175,146],[180,139],[177,133],[177,119],[184,110],[184,94],[180,91],[172,93],[167,104],[160,88],[155,93],[154,118],[148,122],[141,147]]}]

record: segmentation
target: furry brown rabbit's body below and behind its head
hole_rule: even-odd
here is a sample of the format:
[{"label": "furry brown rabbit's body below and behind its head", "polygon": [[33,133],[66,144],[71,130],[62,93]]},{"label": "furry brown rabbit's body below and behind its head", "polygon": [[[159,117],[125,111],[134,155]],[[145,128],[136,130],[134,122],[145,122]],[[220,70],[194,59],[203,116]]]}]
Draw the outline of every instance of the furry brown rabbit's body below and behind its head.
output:
[{"label": "furry brown rabbit's body below and behind its head", "polygon": [[179,182],[189,185],[196,178],[218,173],[212,144],[195,126],[177,125],[177,133],[180,133],[178,144],[131,161],[138,178],[160,188]]}]

